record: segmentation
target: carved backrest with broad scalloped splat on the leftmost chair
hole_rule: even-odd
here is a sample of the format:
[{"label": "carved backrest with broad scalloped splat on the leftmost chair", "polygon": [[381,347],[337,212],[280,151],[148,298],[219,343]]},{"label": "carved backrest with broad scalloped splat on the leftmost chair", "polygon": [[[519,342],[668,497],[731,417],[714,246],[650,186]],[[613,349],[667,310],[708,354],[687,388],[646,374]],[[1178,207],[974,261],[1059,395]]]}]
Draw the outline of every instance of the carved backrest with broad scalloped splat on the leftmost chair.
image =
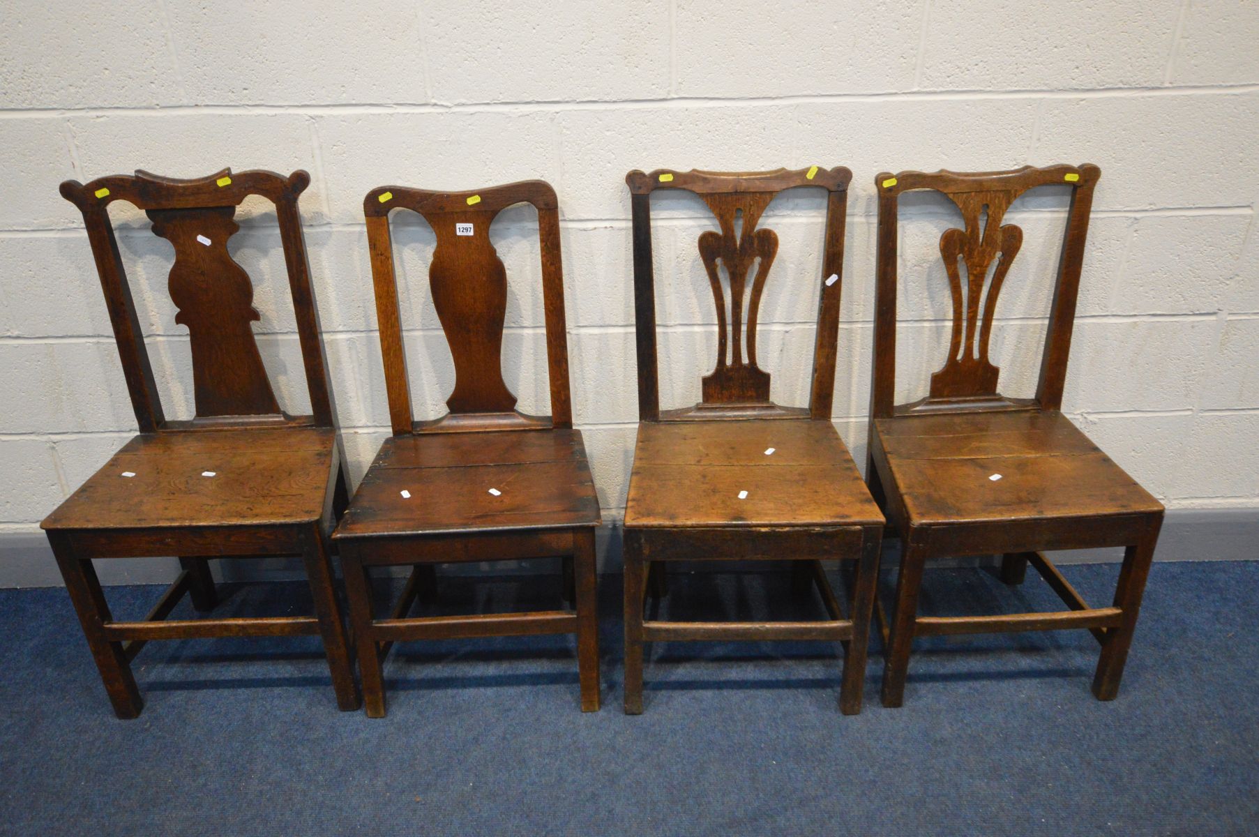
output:
[{"label": "carved backrest with broad scalloped splat on the leftmost chair", "polygon": [[[277,422],[332,427],[327,366],[297,210],[297,198],[308,185],[310,175],[301,170],[285,177],[257,170],[233,175],[230,169],[191,180],[136,171],[133,176],[99,177],[87,185],[76,180],[62,184],[62,196],[83,213],[141,432]],[[240,229],[234,220],[237,206],[251,195],[261,195],[276,206],[311,417],[286,415],[276,403],[253,335],[252,323],[259,318],[253,307],[253,286],[228,253],[228,239]],[[175,248],[169,288],[179,308],[175,322],[188,326],[193,350],[196,418],[191,422],[165,419],[110,220],[108,208],[116,200],[142,209],[152,222],[154,234]]]}]

